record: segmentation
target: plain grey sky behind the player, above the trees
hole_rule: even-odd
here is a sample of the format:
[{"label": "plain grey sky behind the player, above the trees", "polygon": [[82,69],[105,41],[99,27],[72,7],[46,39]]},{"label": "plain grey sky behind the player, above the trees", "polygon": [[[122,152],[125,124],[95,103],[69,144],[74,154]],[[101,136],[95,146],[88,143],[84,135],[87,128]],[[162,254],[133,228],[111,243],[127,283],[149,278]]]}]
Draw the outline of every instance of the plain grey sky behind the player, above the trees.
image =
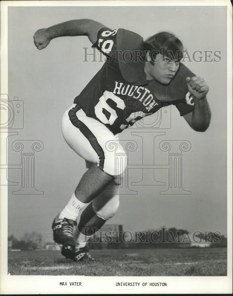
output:
[{"label": "plain grey sky behind the player, above the trees", "polygon": [[[12,149],[14,141],[42,141],[44,148],[35,152],[35,188],[44,194],[12,194],[20,189],[21,175],[18,168],[9,170],[8,179],[18,182],[18,186],[9,186],[8,190],[8,234],[20,239],[24,232],[36,231],[51,242],[52,220],[85,172],[84,160],[63,139],[61,118],[103,62],[83,62],[83,48],[91,46],[85,36],[56,38],[41,51],[33,43],[36,30],[81,18],[112,29],[125,28],[143,38],[158,31],[173,32],[189,53],[201,51],[202,59],[204,51],[221,52],[219,62],[185,62],[210,88],[207,97],[212,119],[207,131],[193,131],[173,106],[159,129],[134,125],[120,134],[122,143],[134,141],[138,145],[129,154],[129,183],[143,178],[144,184],[150,185],[130,185],[137,194],[121,194],[119,210],[107,223],[122,224],[129,231],[166,226],[191,233],[209,230],[226,235],[226,7],[176,6],[9,7],[8,95],[10,100],[14,96],[23,100],[24,128],[12,128],[18,135],[9,137],[8,163],[20,164],[20,152]],[[148,122],[159,115],[152,116]],[[171,122],[169,129],[164,128],[167,122]],[[153,148],[151,139],[155,135]],[[182,155],[183,189],[191,194],[160,194],[167,189],[168,170],[155,170],[155,179],[165,182],[155,186],[154,181],[151,184],[153,170],[142,172],[136,168],[153,161],[167,165],[168,152],[161,151],[159,143],[171,140],[173,144],[174,140],[191,144]]]}]

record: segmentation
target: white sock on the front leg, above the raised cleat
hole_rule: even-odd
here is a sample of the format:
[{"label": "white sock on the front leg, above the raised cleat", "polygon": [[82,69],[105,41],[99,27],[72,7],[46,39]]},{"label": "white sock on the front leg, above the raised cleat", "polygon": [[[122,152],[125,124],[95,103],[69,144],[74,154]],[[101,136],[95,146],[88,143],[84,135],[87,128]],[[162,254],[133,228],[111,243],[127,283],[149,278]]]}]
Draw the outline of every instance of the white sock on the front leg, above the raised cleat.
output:
[{"label": "white sock on the front leg, above the raised cleat", "polygon": [[64,209],[60,212],[60,215],[58,216],[58,219],[68,218],[72,220],[76,220],[76,218],[79,215],[79,211],[85,207],[87,204],[84,204],[83,202],[80,202],[78,200],[74,193],[71,196],[71,199],[69,200],[68,204],[64,207]]}]

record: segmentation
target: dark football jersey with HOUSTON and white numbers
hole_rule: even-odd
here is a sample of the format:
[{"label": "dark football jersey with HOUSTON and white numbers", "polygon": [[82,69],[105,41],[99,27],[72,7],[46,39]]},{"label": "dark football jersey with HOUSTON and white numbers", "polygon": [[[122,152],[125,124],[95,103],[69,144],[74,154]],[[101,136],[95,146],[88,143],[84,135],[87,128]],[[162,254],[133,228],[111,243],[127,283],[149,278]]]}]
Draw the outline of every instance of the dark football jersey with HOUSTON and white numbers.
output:
[{"label": "dark football jersey with HOUSTON and white numbers", "polygon": [[181,116],[193,111],[194,102],[185,78],[195,75],[180,63],[168,85],[147,81],[145,61],[140,59],[143,38],[138,34],[102,28],[92,47],[106,55],[106,62],[74,103],[114,134],[170,104],[178,108]]}]

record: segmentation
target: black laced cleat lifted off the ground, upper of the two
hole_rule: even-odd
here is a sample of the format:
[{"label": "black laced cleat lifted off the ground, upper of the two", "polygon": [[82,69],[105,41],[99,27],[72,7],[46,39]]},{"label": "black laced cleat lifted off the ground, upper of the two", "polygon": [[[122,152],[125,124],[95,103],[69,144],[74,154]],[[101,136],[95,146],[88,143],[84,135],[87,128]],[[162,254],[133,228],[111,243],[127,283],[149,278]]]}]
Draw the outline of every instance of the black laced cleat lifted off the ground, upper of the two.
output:
[{"label": "black laced cleat lifted off the ground, upper of the two", "polygon": [[74,248],[76,241],[73,237],[73,228],[77,225],[77,222],[68,219],[58,219],[59,214],[55,217],[52,223],[53,240],[57,244],[63,244],[66,247]]}]

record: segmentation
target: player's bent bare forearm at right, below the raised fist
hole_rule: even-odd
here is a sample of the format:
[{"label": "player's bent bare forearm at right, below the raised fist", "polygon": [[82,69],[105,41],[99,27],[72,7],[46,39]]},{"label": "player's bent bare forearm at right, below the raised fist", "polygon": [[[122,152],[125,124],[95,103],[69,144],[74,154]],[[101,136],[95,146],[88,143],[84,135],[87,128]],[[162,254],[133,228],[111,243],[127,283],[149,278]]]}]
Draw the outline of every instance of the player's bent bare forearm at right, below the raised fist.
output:
[{"label": "player's bent bare forearm at right, below the raised fist", "polygon": [[195,131],[206,131],[210,125],[211,111],[206,96],[198,100],[194,98],[194,111],[192,113],[192,126]]}]

